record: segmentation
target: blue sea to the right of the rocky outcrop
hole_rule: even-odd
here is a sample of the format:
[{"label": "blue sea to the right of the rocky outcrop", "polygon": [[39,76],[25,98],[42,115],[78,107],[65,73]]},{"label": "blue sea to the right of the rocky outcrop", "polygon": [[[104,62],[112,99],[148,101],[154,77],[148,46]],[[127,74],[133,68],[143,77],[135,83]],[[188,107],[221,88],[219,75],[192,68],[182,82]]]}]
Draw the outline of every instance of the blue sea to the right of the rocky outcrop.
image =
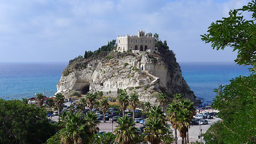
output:
[{"label": "blue sea to the right of the rocky outcrop", "polygon": [[182,75],[194,91],[195,96],[203,98],[205,104],[212,103],[216,93],[213,89],[227,85],[232,78],[249,76],[249,66],[236,65],[234,62],[197,62],[180,63]]}]

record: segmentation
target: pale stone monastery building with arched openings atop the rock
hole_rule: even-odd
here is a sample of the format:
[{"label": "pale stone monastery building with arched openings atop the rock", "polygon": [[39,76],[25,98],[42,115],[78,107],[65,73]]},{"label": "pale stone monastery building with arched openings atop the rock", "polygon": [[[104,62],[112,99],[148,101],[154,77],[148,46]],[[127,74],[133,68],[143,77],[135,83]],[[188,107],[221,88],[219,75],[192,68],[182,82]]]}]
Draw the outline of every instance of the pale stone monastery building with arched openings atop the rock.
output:
[{"label": "pale stone monastery building with arched openings atop the rock", "polygon": [[138,31],[138,35],[130,36],[127,34],[126,36],[117,36],[117,51],[124,52],[129,49],[132,50],[133,53],[139,52],[149,52],[154,53],[157,50],[155,47],[155,38],[154,36],[146,36],[145,31]]}]

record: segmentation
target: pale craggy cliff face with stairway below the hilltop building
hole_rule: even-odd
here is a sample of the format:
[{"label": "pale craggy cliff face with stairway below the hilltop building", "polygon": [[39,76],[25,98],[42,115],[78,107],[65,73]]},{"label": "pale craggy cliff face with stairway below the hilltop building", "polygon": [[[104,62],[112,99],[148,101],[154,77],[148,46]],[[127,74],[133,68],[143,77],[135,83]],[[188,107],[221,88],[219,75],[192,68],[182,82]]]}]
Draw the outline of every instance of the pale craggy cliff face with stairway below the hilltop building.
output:
[{"label": "pale craggy cliff face with stairway below the hilltop building", "polygon": [[98,58],[76,59],[57,84],[58,92],[66,96],[71,91],[102,91],[105,96],[117,97],[118,89],[136,91],[140,101],[152,104],[159,104],[160,92],[166,92],[169,101],[180,93],[196,102],[171,51],[166,58],[159,53],[111,52]]}]

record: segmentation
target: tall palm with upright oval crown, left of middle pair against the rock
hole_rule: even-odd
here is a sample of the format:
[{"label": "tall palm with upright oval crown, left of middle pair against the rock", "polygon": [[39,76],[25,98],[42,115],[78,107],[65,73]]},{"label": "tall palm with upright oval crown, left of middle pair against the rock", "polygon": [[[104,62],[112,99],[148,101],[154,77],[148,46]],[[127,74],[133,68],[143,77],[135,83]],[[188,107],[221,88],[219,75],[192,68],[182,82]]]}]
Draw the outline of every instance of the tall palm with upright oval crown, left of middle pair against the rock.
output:
[{"label": "tall palm with upright oval crown, left of middle pair against the rock", "polygon": [[123,118],[124,118],[124,110],[129,104],[129,95],[127,95],[126,89],[120,89],[120,94],[117,97],[118,102],[120,103],[120,108],[123,110]]}]

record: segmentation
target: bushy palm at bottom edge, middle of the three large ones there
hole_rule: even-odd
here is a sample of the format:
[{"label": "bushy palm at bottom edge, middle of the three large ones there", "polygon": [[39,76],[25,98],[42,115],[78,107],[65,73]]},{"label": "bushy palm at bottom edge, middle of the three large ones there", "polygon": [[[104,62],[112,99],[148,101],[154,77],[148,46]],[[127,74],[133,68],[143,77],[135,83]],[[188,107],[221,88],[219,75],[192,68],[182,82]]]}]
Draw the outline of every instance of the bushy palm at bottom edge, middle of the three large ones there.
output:
[{"label": "bushy palm at bottom edge, middle of the three large ones there", "polygon": [[115,142],[121,144],[132,144],[137,143],[138,131],[135,128],[135,122],[132,118],[129,118],[127,115],[123,118],[118,118],[117,128],[115,128]]}]

